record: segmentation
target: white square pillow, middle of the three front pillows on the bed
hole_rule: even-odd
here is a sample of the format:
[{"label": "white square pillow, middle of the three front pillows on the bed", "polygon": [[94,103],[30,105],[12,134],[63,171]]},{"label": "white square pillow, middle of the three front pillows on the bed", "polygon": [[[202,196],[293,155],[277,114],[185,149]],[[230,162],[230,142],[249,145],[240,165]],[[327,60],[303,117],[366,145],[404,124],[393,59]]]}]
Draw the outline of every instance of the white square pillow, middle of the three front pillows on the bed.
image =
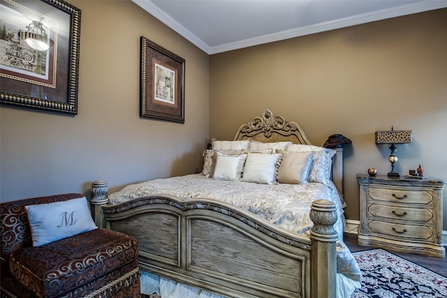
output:
[{"label": "white square pillow, middle of the three front pillows on the bed", "polygon": [[247,154],[241,181],[275,184],[281,154]]}]

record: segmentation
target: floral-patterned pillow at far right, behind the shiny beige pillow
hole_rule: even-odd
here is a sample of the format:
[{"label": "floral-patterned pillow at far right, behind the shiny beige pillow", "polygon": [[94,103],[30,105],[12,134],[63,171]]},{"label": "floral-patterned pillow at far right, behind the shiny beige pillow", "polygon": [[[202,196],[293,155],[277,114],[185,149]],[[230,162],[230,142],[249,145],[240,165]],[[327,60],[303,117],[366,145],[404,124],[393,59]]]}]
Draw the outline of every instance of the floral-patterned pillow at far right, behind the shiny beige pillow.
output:
[{"label": "floral-patterned pillow at far right, behind the shiny beige pillow", "polygon": [[309,182],[318,182],[325,184],[330,179],[332,157],[335,155],[335,153],[337,153],[337,151],[324,147],[303,144],[290,144],[286,148],[286,151],[314,151],[315,154],[312,158],[312,167],[309,173]]}]

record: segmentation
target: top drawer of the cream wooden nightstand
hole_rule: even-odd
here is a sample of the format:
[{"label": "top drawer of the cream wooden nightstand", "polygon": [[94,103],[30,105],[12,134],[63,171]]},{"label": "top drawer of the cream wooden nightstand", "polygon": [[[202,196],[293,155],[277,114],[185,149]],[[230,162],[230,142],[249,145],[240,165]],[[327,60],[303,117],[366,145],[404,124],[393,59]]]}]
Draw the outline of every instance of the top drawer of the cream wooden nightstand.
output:
[{"label": "top drawer of the cream wooden nightstand", "polygon": [[432,193],[428,191],[410,191],[407,188],[369,188],[369,198],[377,201],[400,202],[406,204],[430,204]]}]

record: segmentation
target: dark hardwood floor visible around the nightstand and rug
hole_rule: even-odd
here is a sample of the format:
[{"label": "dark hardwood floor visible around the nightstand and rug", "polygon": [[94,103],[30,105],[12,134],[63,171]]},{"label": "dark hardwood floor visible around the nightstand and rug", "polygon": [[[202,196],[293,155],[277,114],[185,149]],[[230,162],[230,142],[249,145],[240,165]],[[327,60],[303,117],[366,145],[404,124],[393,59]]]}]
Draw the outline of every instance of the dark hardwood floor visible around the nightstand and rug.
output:
[{"label": "dark hardwood floor visible around the nightstand and rug", "polygon": [[[372,246],[360,246],[357,243],[357,234],[345,233],[344,234],[344,243],[349,247],[351,252],[356,251],[367,251],[374,247]],[[445,247],[445,246],[444,246]],[[447,248],[446,248],[447,250]],[[413,263],[418,264],[419,266],[430,269],[437,274],[447,277],[447,258],[433,258],[427,257],[426,255],[413,255],[410,253],[398,253],[397,251],[390,251],[390,253],[394,253],[395,255],[399,255],[401,258],[409,260]]]}]

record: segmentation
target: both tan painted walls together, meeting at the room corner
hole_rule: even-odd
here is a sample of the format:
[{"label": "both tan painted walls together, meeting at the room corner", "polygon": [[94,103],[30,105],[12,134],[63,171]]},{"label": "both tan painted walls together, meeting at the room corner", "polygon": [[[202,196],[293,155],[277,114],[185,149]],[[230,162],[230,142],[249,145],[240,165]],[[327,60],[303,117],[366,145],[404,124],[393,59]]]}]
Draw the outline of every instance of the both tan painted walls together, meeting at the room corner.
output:
[{"label": "both tan painted walls together, meeting at the room corner", "polygon": [[[208,57],[131,1],[68,2],[82,10],[78,115],[0,107],[1,201],[196,172],[208,137],[233,138],[265,108],[298,121],[314,144],[351,138],[349,219],[356,173],[390,170],[374,131],[413,129],[397,171],[422,163],[447,179],[447,9]],[[140,36],[186,59],[185,124],[138,116]]]}]

